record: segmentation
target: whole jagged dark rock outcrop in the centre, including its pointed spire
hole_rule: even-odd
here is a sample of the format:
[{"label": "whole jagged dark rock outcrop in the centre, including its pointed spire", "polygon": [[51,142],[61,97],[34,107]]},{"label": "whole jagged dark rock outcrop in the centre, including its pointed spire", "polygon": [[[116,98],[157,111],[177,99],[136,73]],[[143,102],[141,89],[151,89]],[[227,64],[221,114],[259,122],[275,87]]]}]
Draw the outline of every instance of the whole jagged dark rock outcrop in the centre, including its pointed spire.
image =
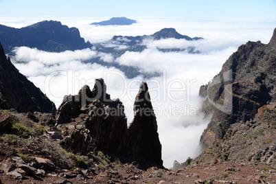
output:
[{"label": "whole jagged dark rock outcrop in the centre, including its pointed spire", "polygon": [[66,150],[88,154],[100,150],[126,162],[137,161],[141,168],[163,167],[161,143],[146,83],[135,100],[135,118],[127,126],[124,105],[111,100],[104,80],[96,79],[92,90],[84,85],[78,95],[65,96],[56,122],[67,127],[62,142]]}]

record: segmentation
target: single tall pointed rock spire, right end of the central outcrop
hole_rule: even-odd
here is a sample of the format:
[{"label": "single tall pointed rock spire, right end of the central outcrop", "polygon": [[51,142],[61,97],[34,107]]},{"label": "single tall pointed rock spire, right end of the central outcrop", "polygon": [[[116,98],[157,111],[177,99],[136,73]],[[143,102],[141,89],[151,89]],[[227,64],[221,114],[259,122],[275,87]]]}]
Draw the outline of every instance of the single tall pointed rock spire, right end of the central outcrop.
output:
[{"label": "single tall pointed rock spire, right end of the central outcrop", "polygon": [[148,85],[145,82],[140,85],[133,111],[134,119],[128,127],[130,157],[147,159],[163,165],[157,120],[150,102]]}]

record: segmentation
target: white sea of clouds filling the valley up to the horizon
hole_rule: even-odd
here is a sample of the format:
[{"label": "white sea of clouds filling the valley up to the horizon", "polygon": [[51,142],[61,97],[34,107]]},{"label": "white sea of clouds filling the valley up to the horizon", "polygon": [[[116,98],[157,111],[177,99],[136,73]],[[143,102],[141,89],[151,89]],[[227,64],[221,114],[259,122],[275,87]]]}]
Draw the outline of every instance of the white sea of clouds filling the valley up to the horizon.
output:
[{"label": "white sea of clouds filling the valley up to the horizon", "polygon": [[[142,81],[148,82],[152,105],[157,115],[162,157],[167,168],[174,160],[183,162],[197,157],[200,135],[209,118],[200,113],[200,85],[207,84],[221,69],[229,56],[247,41],[268,43],[275,20],[243,20],[223,18],[162,18],[130,17],[138,23],[124,26],[95,26],[89,23],[110,18],[57,18],[69,27],[78,27],[86,41],[100,43],[114,35],[143,36],[154,34],[164,27],[174,27],[180,34],[203,37],[204,40],[185,41],[174,38],[144,41],[141,53],[126,51],[119,58],[95,49],[48,53],[28,47],[14,49],[12,62],[21,73],[34,82],[58,107],[67,94],[76,94],[84,84],[93,88],[95,78],[104,78],[111,98],[119,97],[126,108],[128,123],[133,119],[133,102]],[[0,24],[23,27],[45,19],[1,19]],[[49,19],[48,19],[49,20]],[[113,45],[124,49],[124,45]],[[159,49],[195,47],[200,54],[187,51],[162,52]],[[159,49],[158,49],[159,48]],[[106,62],[137,67],[141,72],[158,72],[154,78],[137,76],[128,79],[122,71],[84,60],[101,57]]]}]

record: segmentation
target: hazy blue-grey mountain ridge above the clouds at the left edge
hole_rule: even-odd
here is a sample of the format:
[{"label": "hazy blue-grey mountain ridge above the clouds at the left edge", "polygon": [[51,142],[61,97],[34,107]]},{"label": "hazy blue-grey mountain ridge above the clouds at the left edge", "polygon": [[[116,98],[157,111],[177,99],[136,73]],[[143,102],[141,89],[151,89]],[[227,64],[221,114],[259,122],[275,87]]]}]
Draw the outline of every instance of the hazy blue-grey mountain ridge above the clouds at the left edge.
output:
[{"label": "hazy blue-grey mountain ridge above the clouds at the left edge", "polygon": [[0,25],[0,41],[7,54],[21,46],[54,52],[92,47],[80,37],[76,27],[69,28],[58,21],[42,21],[21,29]]}]

